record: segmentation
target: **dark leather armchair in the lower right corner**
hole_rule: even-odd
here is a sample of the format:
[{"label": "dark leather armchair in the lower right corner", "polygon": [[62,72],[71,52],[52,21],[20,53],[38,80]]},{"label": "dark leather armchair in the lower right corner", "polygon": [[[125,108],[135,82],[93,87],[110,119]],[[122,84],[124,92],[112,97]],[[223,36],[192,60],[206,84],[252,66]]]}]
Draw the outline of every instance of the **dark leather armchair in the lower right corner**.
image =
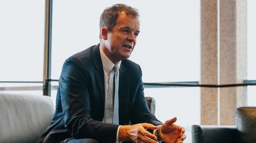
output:
[{"label": "dark leather armchair in the lower right corner", "polygon": [[236,126],[192,126],[193,143],[255,143],[256,107],[239,107]]}]

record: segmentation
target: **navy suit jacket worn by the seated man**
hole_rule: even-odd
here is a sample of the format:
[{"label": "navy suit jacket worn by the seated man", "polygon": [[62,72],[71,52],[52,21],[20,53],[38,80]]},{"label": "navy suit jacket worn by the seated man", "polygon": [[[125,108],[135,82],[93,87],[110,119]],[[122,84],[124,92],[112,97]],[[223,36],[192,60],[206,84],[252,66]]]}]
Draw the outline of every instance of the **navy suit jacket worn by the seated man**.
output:
[{"label": "navy suit jacket worn by the seated man", "polygon": [[[162,124],[146,104],[140,66],[122,60],[119,69],[119,124]],[[94,138],[115,142],[118,125],[102,123],[104,116],[104,74],[99,45],[74,54],[65,61],[59,79],[53,119],[37,142]]]}]

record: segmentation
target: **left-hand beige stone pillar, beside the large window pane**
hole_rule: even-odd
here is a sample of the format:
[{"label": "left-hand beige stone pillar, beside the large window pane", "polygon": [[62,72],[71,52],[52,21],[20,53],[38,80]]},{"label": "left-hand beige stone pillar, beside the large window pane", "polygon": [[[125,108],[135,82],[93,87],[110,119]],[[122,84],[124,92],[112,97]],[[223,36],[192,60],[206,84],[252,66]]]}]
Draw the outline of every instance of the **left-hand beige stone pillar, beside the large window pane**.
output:
[{"label": "left-hand beige stone pillar, beside the large window pane", "polygon": [[[217,0],[201,0],[201,84],[218,84]],[[218,124],[218,89],[201,88],[201,124]]]}]

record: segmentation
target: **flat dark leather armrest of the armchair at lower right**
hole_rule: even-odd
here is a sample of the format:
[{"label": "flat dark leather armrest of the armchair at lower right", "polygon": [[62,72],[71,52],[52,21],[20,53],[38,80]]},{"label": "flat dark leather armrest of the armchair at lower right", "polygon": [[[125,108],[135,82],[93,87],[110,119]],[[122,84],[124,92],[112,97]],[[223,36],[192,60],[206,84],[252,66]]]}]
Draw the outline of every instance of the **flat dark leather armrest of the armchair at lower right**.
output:
[{"label": "flat dark leather armrest of the armchair at lower right", "polygon": [[193,143],[233,143],[237,133],[236,126],[193,125]]}]

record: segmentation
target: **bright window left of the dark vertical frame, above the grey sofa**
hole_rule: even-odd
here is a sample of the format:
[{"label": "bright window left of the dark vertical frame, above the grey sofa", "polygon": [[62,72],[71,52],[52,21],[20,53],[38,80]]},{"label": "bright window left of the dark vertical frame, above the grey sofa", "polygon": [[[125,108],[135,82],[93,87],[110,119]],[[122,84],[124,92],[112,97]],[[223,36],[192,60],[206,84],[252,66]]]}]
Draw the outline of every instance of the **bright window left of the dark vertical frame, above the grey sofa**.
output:
[{"label": "bright window left of the dark vertical frame, above the grey sofa", "polygon": [[[45,2],[1,1],[0,19],[0,81],[41,82],[44,61]],[[33,85],[42,86],[41,83],[1,83],[0,87]],[[31,94],[38,94],[32,91],[30,89]]]}]

